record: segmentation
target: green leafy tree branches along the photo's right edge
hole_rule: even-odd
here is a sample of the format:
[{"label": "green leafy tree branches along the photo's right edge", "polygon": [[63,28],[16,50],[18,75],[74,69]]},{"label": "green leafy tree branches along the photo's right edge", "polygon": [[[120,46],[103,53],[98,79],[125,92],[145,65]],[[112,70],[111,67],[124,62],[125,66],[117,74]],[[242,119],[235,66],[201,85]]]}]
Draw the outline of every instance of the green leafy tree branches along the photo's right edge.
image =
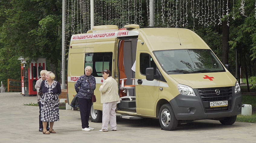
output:
[{"label": "green leafy tree branches along the photo's right edge", "polygon": [[[240,2],[241,1],[238,0],[235,1],[235,11],[233,11],[233,13],[235,15],[236,25],[234,26],[235,30],[232,31],[232,34],[235,35],[235,37],[232,38],[231,41],[229,41],[229,44],[232,46],[232,49],[237,49],[238,51],[241,51],[240,59],[244,59],[246,60],[246,62],[251,62],[255,61],[256,58],[255,1],[246,1],[246,5],[244,5],[243,8],[245,11],[241,9]],[[241,11],[239,10],[239,8],[241,9]],[[244,16],[242,16],[241,12],[245,12],[243,14]],[[246,59],[246,54],[249,53],[250,58]],[[245,68],[247,68],[247,66]],[[252,88],[254,88],[254,85],[256,83],[255,79],[255,75],[253,75],[251,77],[252,83],[254,83],[252,84]]]}]

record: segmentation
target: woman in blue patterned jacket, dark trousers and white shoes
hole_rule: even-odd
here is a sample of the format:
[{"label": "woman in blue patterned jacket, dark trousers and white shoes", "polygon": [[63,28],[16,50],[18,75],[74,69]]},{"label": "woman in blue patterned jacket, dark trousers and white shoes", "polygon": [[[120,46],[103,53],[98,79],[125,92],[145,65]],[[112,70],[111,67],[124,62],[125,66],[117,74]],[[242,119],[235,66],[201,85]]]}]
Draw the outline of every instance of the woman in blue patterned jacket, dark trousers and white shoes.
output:
[{"label": "woman in blue patterned jacket, dark trousers and white shoes", "polygon": [[84,71],[85,75],[80,76],[76,81],[75,90],[78,97],[82,131],[90,131],[94,130],[94,128],[89,127],[89,115],[92,107],[92,92],[96,88],[96,80],[95,77],[91,75],[91,66],[86,66]]}]

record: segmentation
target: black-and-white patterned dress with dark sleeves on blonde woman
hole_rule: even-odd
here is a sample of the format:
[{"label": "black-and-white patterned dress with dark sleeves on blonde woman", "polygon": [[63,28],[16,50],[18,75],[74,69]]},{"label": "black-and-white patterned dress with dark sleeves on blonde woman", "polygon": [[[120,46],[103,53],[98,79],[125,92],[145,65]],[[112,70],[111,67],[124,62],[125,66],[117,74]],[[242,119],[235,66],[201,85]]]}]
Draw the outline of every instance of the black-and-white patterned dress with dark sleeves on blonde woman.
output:
[{"label": "black-and-white patterned dress with dark sleeves on blonde woman", "polygon": [[47,80],[41,83],[41,121],[55,122],[60,120],[59,115],[59,95],[61,93],[60,83],[54,81],[50,86]]}]

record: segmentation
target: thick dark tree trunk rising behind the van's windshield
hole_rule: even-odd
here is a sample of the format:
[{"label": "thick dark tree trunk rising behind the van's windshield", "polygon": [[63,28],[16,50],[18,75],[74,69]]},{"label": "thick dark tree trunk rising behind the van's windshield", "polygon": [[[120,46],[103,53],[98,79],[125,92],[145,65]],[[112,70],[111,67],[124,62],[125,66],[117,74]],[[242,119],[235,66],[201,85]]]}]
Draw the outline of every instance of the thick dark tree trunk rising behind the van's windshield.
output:
[{"label": "thick dark tree trunk rising behind the van's windshield", "polygon": [[222,64],[228,64],[228,50],[229,50],[229,26],[227,25],[228,21],[224,20],[222,22]]}]

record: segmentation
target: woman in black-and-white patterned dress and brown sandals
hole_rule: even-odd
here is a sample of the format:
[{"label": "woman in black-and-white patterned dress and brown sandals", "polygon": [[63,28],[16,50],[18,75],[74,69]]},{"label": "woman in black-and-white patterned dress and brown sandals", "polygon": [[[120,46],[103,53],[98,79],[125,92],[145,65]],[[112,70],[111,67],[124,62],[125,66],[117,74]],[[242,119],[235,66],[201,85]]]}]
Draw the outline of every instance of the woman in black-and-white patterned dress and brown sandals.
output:
[{"label": "woman in black-and-white patterned dress and brown sandals", "polygon": [[[42,90],[41,102],[41,121],[43,121],[43,134],[56,133],[53,130],[53,123],[60,120],[59,115],[59,95],[61,93],[60,83],[54,81],[53,72],[46,73],[46,80],[41,83]],[[47,122],[50,122],[50,130],[47,131]]]}]

